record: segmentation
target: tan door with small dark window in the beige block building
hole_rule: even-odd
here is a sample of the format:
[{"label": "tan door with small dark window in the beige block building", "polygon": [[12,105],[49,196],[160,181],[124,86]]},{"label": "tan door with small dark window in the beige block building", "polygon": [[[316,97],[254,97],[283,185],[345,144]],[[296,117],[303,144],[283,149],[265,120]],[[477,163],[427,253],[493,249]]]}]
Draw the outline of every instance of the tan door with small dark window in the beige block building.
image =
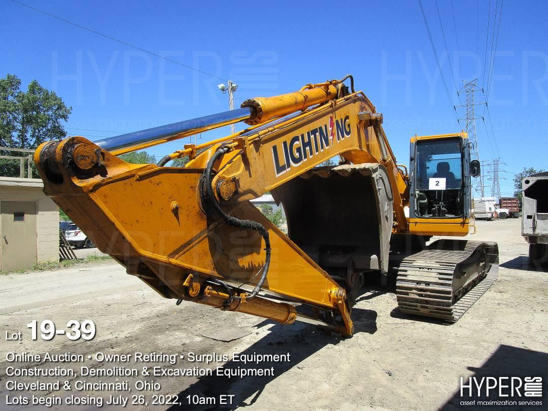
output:
[{"label": "tan door with small dark window in the beige block building", "polygon": [[13,271],[35,265],[36,202],[0,202],[0,250],[2,271]]}]

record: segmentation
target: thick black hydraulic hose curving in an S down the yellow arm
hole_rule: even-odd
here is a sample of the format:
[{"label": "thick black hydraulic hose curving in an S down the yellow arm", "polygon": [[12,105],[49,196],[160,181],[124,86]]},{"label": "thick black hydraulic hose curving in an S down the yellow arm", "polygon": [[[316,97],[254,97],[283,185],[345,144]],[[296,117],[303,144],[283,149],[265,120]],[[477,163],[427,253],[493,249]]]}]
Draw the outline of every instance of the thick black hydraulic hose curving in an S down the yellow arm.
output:
[{"label": "thick black hydraulic hose curving in an S down the yellow arm", "polygon": [[213,212],[220,218],[222,221],[226,222],[226,224],[237,227],[239,229],[244,230],[255,230],[259,232],[262,238],[264,238],[265,241],[265,264],[262,266],[262,275],[259,279],[259,282],[253,289],[253,292],[249,294],[247,297],[247,300],[250,300],[254,298],[257,294],[259,294],[262,284],[264,284],[266,275],[269,272],[269,266],[270,266],[270,237],[269,232],[265,229],[265,227],[260,224],[257,221],[252,220],[240,220],[236,217],[233,217],[231,215],[226,214],[219,205],[219,202],[215,198],[215,194],[213,193],[213,187],[212,187],[212,180],[213,180],[213,164],[225,153],[229,152],[231,149],[230,147],[220,147],[217,151],[213,153],[213,156],[209,159],[209,162],[207,163],[206,170],[204,170],[203,174],[203,185],[202,185],[202,201],[204,203],[204,208],[206,209],[206,214],[209,214],[210,212]]}]

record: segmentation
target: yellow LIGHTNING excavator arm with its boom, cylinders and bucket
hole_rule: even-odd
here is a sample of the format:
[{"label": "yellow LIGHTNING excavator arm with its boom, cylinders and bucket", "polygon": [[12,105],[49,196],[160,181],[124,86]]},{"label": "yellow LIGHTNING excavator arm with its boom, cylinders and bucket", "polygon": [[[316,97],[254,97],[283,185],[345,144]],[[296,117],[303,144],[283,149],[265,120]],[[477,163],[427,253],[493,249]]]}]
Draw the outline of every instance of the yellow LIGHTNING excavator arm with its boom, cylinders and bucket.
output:
[{"label": "yellow LIGHTNING excavator arm with its boom, cylinders and bucket", "polygon": [[[409,190],[382,116],[345,79],[215,118],[44,143],[35,153],[44,192],[165,298],[351,336],[357,273],[386,272],[391,233],[407,231]],[[250,127],[158,165],[116,157],[236,121]],[[191,158],[185,167],[164,167],[181,156]],[[339,165],[317,167],[335,156]],[[249,202],[269,191],[289,237]]]}]

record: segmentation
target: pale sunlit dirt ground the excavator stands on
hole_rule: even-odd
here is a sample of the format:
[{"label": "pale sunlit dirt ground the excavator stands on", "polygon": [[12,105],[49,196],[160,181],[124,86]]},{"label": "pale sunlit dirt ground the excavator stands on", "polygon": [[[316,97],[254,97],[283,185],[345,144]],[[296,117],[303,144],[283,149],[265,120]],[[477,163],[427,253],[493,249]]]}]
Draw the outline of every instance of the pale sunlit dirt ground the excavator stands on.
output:
[{"label": "pale sunlit dirt ground the excavator stands on", "polygon": [[[98,351],[289,352],[289,362],[255,366],[274,367],[273,376],[164,376],[154,380],[161,384],[164,394],[180,393],[180,398],[196,394],[202,398],[224,393],[235,395],[232,407],[252,409],[478,409],[459,406],[461,376],[466,380],[471,375],[540,375],[544,381],[548,376],[548,273],[529,267],[520,224],[520,219],[477,222],[478,233],[471,236],[473,239],[499,243],[499,279],[458,323],[444,325],[401,315],[395,310],[393,284],[381,288],[376,279],[371,279],[352,313],[356,334],[350,339],[323,334],[306,324],[281,326],[185,301],[176,306],[174,300],[161,298],[118,265],[2,276],[0,326],[6,332],[21,331],[25,338],[0,340],[0,409],[21,408],[5,405],[5,395],[15,395],[5,390],[9,366],[6,353],[10,351],[85,355]],[[95,338],[28,339],[26,324],[32,320],[39,323],[51,319],[62,326],[72,318],[93,319]],[[225,329],[249,335],[230,343],[203,336]],[[222,363],[225,368],[242,366],[230,360]],[[85,365],[112,366],[93,359],[86,359]],[[182,366],[178,363],[174,367]],[[541,399],[547,403],[546,392]],[[149,403],[127,408],[168,406]]]}]

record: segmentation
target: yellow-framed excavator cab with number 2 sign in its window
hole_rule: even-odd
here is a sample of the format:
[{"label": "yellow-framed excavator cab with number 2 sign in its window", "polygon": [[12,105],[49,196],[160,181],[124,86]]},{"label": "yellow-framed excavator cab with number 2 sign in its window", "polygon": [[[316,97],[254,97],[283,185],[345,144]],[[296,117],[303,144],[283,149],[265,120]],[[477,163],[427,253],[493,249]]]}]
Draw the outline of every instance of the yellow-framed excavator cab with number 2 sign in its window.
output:
[{"label": "yellow-framed excavator cab with number 2 sign in its window", "polygon": [[449,227],[452,233],[456,229],[466,235],[471,213],[470,170],[466,133],[412,138],[410,222],[436,224],[441,231]]}]

